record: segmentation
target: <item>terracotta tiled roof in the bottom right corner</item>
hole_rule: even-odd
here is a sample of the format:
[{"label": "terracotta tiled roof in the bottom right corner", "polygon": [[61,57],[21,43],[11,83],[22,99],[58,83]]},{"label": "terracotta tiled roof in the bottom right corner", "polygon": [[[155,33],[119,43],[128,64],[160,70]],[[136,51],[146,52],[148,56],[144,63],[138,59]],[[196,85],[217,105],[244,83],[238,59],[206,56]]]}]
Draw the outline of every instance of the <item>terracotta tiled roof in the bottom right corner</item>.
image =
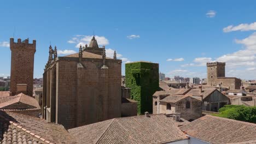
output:
[{"label": "terracotta tiled roof in the bottom right corner", "polygon": [[256,124],[234,119],[203,116],[181,127],[189,136],[210,143],[249,143],[256,141]]}]

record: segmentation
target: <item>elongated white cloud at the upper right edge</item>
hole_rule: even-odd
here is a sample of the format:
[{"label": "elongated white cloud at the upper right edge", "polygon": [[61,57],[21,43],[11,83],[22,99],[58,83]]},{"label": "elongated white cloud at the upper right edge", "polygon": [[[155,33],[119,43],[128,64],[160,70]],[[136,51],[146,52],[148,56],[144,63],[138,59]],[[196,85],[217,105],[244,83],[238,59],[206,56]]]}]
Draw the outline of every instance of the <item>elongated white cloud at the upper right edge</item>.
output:
[{"label": "elongated white cloud at the upper right edge", "polygon": [[241,23],[238,26],[228,26],[223,28],[223,32],[227,33],[227,32],[232,32],[232,31],[252,31],[252,30],[256,30],[256,22],[253,23]]}]

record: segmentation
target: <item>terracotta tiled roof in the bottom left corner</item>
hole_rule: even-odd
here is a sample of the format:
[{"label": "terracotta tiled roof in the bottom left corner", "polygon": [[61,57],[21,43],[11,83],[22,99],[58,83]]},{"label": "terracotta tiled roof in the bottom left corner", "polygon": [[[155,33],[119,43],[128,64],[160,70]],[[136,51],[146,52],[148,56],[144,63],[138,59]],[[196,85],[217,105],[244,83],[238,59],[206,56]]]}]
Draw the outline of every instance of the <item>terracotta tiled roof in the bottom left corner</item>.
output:
[{"label": "terracotta tiled roof in the bottom left corner", "polygon": [[0,143],[75,143],[60,124],[0,111]]}]

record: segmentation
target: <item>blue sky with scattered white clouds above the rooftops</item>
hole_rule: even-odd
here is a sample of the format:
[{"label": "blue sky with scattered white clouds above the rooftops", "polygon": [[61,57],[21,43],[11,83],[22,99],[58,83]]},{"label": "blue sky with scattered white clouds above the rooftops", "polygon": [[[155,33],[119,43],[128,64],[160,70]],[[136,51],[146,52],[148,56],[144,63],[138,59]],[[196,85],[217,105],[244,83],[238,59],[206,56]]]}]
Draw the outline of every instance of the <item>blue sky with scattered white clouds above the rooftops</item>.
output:
[{"label": "blue sky with scattered white clouds above the rooftops", "polygon": [[[0,4],[0,75],[10,75],[9,38],[37,40],[34,77],[48,47],[78,52],[95,34],[124,64],[159,63],[167,76],[206,77],[206,62],[226,62],[226,76],[256,79],[255,1],[4,1]],[[254,23],[255,22],[255,23]],[[254,33],[255,32],[255,33]],[[65,51],[66,50],[66,51]],[[62,53],[62,55],[60,55]]]}]

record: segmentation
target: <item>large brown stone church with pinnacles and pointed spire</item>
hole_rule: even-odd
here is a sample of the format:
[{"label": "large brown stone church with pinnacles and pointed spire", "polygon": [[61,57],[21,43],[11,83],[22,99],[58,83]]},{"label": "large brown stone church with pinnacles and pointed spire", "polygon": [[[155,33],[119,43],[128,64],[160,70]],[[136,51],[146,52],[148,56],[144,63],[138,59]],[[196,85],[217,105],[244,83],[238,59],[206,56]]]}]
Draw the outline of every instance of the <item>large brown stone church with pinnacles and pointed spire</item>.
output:
[{"label": "large brown stone church with pinnacles and pointed spire", "polygon": [[43,118],[74,128],[121,117],[121,63],[116,53],[106,57],[95,37],[79,53],[64,57],[57,57],[56,46],[50,46],[43,74]]}]

